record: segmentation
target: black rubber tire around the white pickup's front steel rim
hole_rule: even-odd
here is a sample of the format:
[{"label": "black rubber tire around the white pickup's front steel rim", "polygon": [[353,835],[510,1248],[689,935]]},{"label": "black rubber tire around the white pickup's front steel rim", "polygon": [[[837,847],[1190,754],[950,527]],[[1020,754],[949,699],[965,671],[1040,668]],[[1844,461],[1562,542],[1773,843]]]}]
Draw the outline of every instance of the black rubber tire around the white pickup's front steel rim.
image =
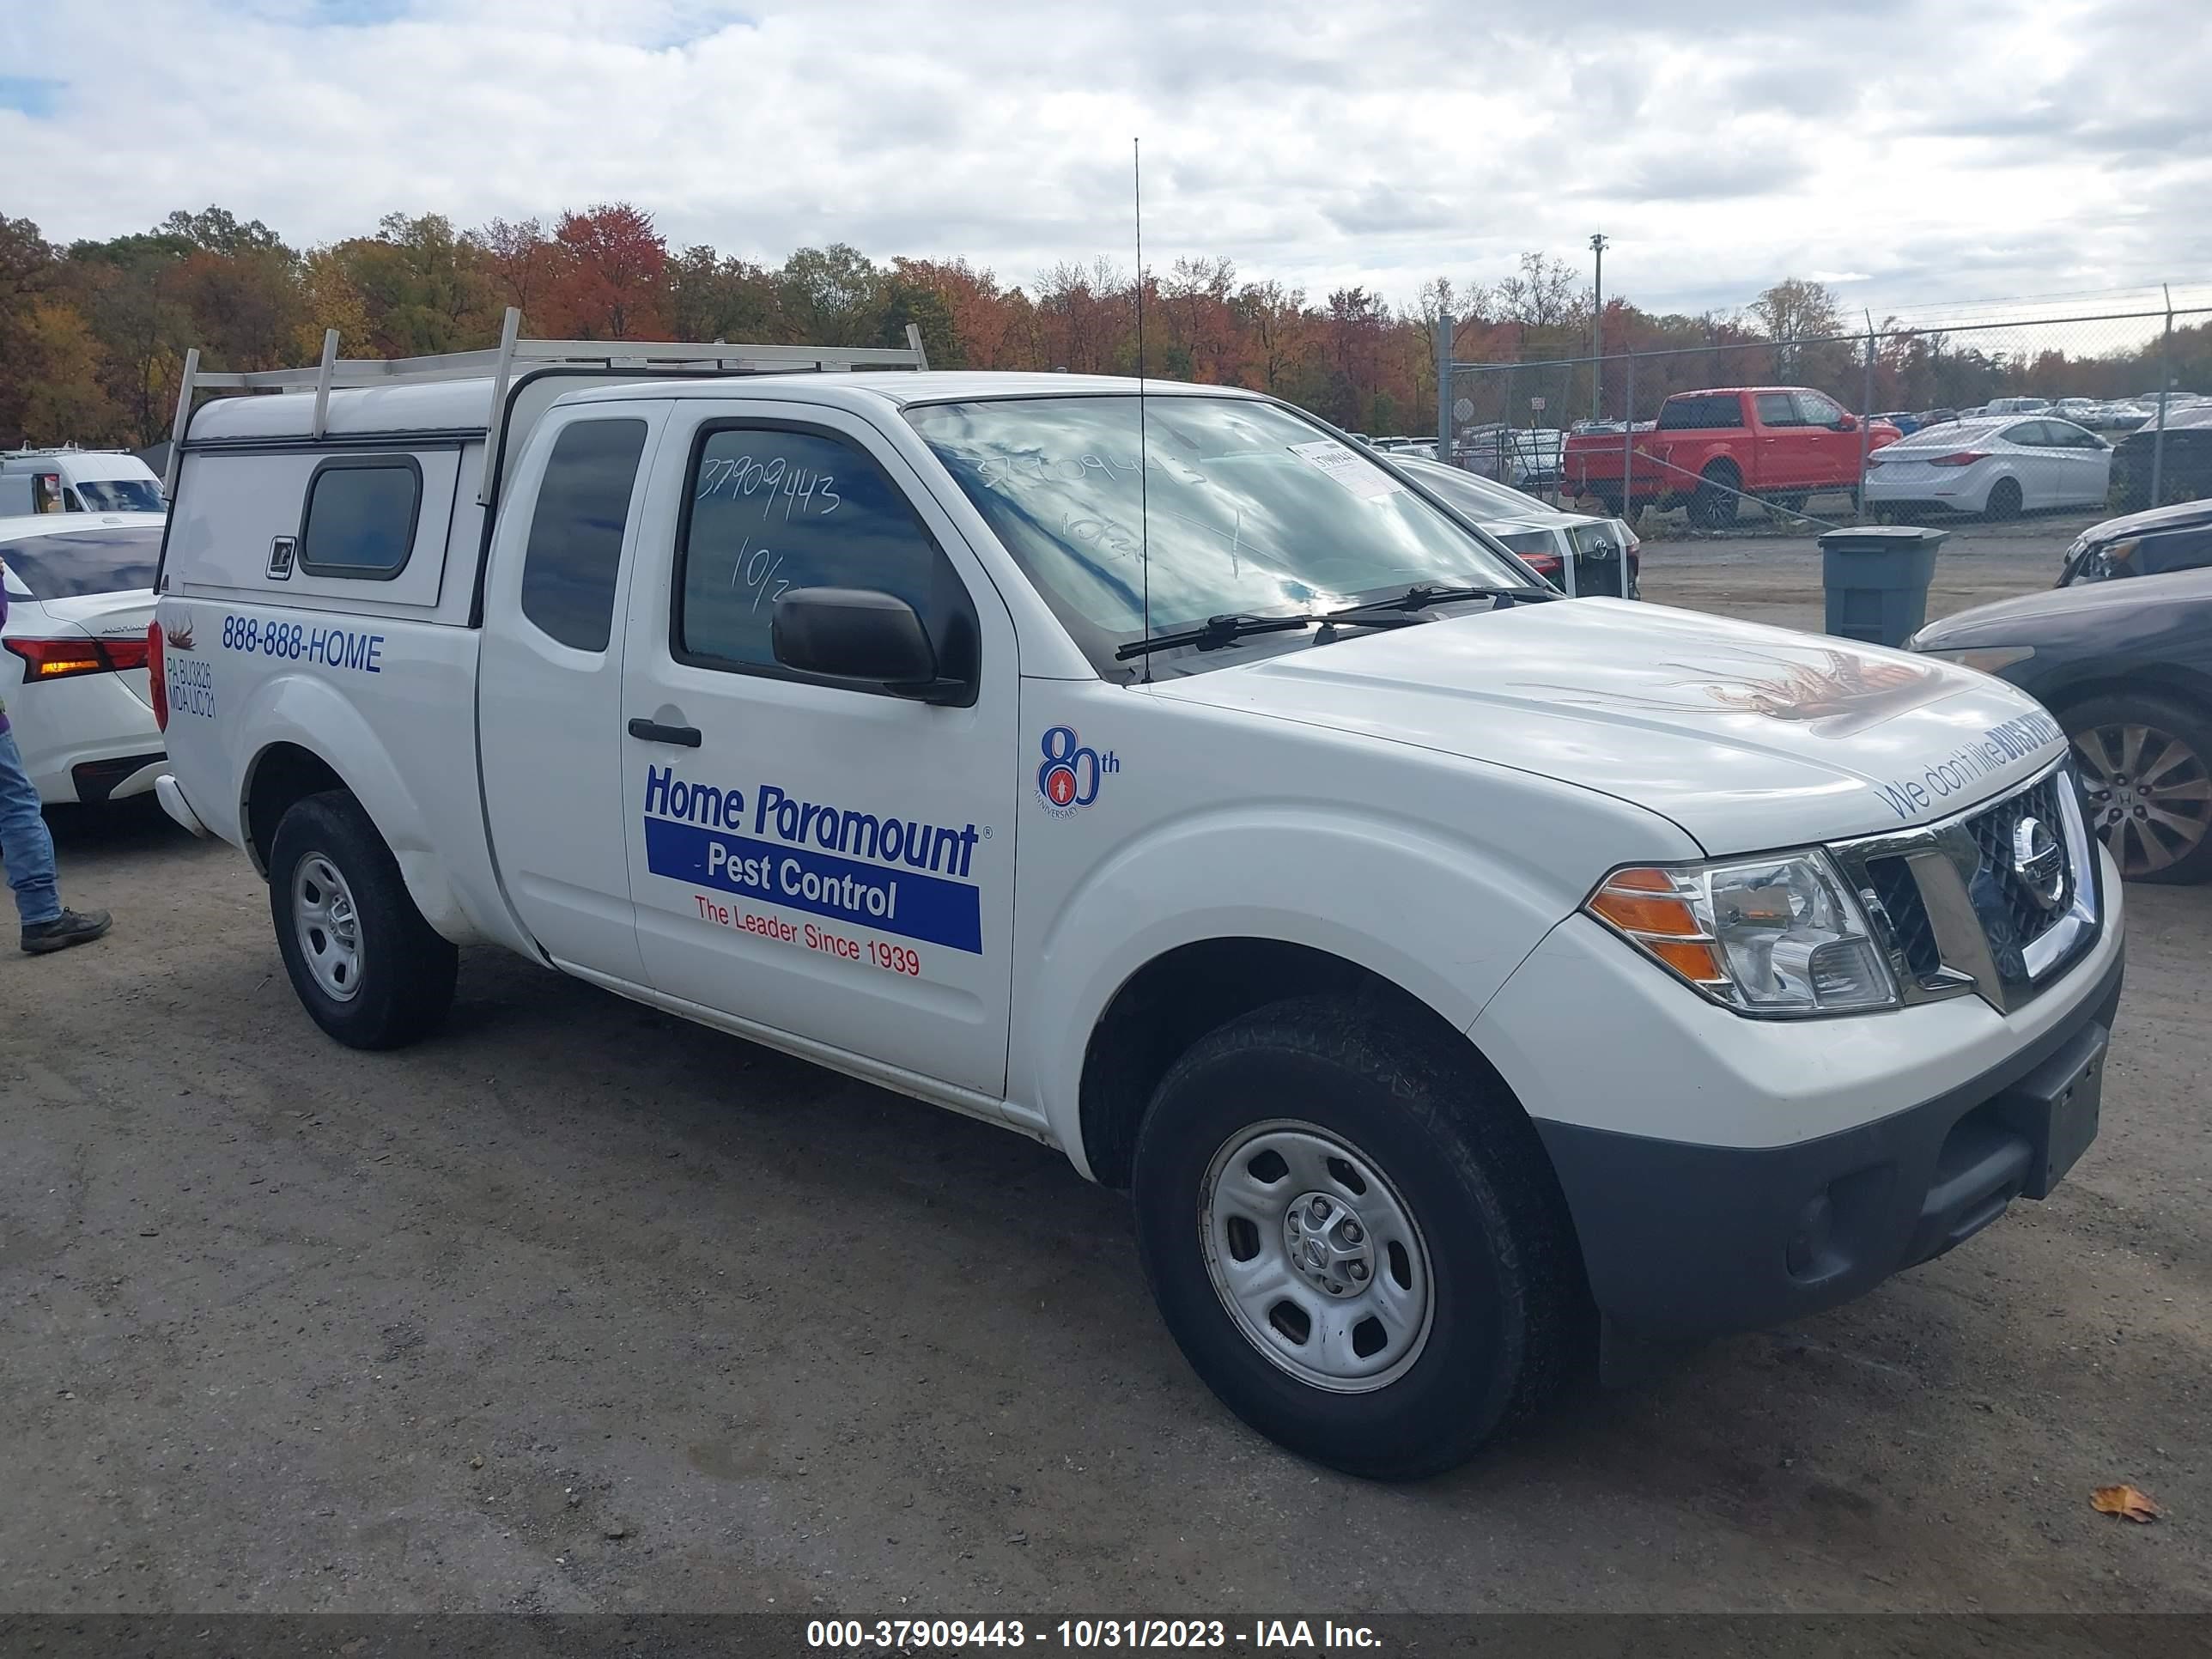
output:
[{"label": "black rubber tire around the white pickup's front steel rim", "polygon": [[[1427,1334],[1407,1349],[1405,1369],[1367,1391],[1332,1391],[1292,1374],[1214,1285],[1210,1170],[1263,1124],[1303,1126],[1352,1148],[1383,1175],[1383,1201],[1398,1201],[1413,1221],[1429,1265]],[[1327,1168],[1334,1181],[1338,1166]],[[1305,1199],[1290,1190],[1294,1170],[1279,1179],[1283,1219],[1274,1225],[1287,1228]],[[1374,1188],[1340,1183],[1338,1192]],[[1152,1097],[1133,1197],[1146,1279],[1190,1367],[1248,1425],[1332,1469],[1378,1480],[1451,1469],[1553,1398],[1590,1349],[1582,1254],[1526,1115],[1455,1037],[1354,1000],[1279,1002],[1201,1037]],[[1371,1243],[1383,1243],[1385,1225],[1369,1210]],[[1252,1230],[1254,1241],[1263,1237]],[[1376,1256],[1376,1290],[1383,1272],[1418,1283],[1420,1256],[1387,1250]],[[1358,1305],[1321,1301],[1314,1285],[1298,1294],[1323,1310],[1345,1307],[1347,1321],[1358,1314]],[[1376,1321],[1338,1329],[1356,1347],[1369,1323],[1380,1329]],[[1296,1340],[1314,1340],[1312,1325]]]}]

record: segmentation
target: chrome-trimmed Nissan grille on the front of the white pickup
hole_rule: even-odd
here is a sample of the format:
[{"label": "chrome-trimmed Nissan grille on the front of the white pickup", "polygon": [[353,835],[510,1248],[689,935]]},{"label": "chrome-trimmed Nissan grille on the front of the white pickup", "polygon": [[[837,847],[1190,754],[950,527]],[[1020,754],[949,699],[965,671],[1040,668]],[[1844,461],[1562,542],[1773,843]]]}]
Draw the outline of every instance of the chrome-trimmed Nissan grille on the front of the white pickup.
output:
[{"label": "chrome-trimmed Nissan grille on the front of the white pickup", "polygon": [[[2055,891],[2022,867],[2022,827],[2057,843]],[[2026,836],[2035,843],[2033,832]],[[2035,843],[2042,845],[2042,843]],[[1907,1002],[1975,991],[2000,1011],[2028,1002],[2097,938],[2097,867],[2066,765],[1973,812],[1834,847]]]}]

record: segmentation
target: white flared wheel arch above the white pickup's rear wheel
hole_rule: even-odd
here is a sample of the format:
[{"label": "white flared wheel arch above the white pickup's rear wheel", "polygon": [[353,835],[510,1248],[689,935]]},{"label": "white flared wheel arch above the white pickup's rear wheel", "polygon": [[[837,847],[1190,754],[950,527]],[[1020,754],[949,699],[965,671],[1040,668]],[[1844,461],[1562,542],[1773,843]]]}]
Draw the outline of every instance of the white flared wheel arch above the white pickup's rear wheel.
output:
[{"label": "white flared wheel arch above the white pickup's rear wheel", "polygon": [[[246,803],[254,792],[261,759],[279,743],[305,750],[338,774],[338,781],[361,801],[376,834],[385,838],[392,858],[407,883],[407,896],[431,929],[456,945],[480,938],[460,896],[447,876],[445,858],[431,841],[429,818],[392,761],[369,721],[330,684],[307,675],[279,675],[261,681],[239,710],[241,730],[259,734],[259,748],[241,772],[239,825],[250,825]],[[252,841],[248,836],[248,852]],[[261,863],[259,854],[252,854]],[[261,872],[268,874],[265,869]]]}]

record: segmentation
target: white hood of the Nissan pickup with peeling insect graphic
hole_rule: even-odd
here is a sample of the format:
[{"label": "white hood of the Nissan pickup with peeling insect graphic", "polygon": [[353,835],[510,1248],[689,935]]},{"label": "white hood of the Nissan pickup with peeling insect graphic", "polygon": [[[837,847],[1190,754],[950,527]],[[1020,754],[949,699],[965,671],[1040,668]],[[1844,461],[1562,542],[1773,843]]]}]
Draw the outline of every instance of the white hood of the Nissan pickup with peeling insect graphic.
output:
[{"label": "white hood of the Nissan pickup with peeling insect graphic", "polygon": [[1157,692],[1579,783],[1712,854],[1947,818],[2066,748],[1989,675],[1626,599],[1292,648]]}]

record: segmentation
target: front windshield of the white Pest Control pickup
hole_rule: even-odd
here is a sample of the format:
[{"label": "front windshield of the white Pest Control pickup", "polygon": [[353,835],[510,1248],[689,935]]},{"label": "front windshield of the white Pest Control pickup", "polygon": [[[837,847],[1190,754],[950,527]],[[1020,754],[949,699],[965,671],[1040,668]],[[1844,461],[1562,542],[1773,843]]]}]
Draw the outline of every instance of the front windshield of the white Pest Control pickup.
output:
[{"label": "front windshield of the white Pest Control pickup", "polygon": [[1369,456],[1270,403],[1148,396],[1141,469],[1133,396],[938,403],[907,420],[1102,668],[1146,633],[1146,588],[1157,635],[1416,582],[1528,586]]}]

